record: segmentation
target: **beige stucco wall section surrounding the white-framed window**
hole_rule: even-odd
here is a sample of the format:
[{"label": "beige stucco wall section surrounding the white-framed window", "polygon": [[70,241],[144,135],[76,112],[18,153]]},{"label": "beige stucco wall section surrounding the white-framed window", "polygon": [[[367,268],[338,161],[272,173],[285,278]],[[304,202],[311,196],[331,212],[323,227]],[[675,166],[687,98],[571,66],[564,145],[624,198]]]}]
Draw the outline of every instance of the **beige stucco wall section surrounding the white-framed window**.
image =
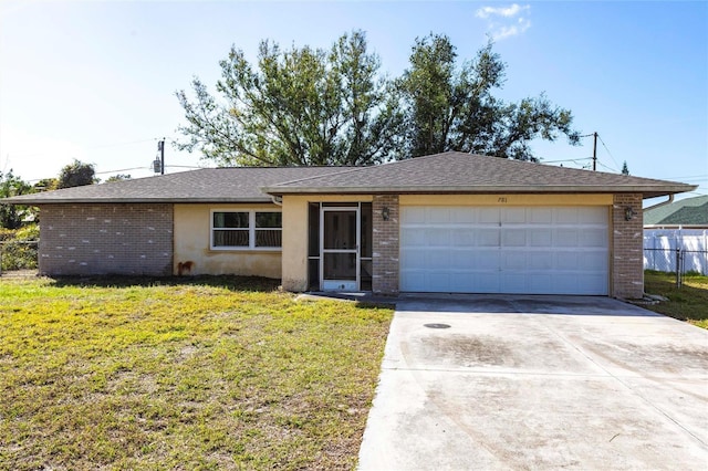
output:
[{"label": "beige stucco wall section surrounding the white-framed window", "polygon": [[191,269],[183,274],[233,274],[279,279],[281,275],[280,249],[211,249],[210,218],[212,210],[258,211],[263,209],[272,210],[280,208],[275,205],[175,205],[175,258],[173,274],[178,274],[179,263],[191,262]]}]

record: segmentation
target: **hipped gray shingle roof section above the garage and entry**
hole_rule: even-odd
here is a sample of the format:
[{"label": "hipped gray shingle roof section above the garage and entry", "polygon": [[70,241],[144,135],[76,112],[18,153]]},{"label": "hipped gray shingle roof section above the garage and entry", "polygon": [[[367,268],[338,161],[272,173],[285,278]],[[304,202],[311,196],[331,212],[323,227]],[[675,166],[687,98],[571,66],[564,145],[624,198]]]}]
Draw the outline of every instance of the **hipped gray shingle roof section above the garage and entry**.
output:
[{"label": "hipped gray shingle roof section above the garage and entry", "polygon": [[674,181],[451,151],[266,185],[263,191],[272,195],[638,192],[652,198],[695,188]]}]

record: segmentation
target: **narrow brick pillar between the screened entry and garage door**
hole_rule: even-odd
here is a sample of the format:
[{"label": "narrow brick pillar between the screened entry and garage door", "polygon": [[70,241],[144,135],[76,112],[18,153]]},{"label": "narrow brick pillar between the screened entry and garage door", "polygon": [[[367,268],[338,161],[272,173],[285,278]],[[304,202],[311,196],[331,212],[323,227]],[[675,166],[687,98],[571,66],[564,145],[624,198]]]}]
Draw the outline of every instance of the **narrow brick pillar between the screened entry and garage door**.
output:
[{"label": "narrow brick pillar between the screened entry and garage door", "polygon": [[[382,211],[388,208],[388,220]],[[398,293],[398,196],[374,196],[372,203],[374,219],[374,251],[372,291],[379,294]]]}]

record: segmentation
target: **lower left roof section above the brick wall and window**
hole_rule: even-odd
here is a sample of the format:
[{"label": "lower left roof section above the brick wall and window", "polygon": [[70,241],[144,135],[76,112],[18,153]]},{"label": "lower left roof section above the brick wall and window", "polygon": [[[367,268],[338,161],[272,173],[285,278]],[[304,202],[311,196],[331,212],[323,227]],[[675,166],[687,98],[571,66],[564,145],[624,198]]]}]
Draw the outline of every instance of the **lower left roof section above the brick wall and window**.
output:
[{"label": "lower left roof section above the brick wall and window", "polygon": [[267,202],[263,185],[339,172],[346,167],[202,168],[134,180],[22,195],[1,202],[49,205],[62,202]]}]

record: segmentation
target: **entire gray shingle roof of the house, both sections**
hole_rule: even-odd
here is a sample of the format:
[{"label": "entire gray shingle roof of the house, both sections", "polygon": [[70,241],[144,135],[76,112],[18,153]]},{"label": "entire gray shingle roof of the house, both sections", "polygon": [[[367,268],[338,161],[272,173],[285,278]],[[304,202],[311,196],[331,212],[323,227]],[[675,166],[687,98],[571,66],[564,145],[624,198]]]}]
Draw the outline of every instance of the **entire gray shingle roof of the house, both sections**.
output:
[{"label": "entire gray shingle roof of the house, both sections", "polygon": [[445,153],[372,167],[205,168],[17,196],[0,202],[268,202],[270,195],[387,192],[639,192],[652,198],[695,188],[673,181]]}]

